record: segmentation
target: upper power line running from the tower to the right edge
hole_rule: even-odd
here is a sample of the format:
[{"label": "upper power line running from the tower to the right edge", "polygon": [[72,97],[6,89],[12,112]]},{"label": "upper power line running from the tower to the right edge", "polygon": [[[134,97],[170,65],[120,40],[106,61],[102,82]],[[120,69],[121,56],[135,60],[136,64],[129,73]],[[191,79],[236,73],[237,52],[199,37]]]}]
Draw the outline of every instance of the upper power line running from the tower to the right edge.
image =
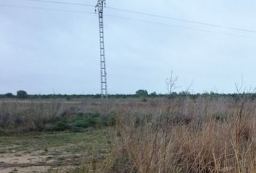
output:
[{"label": "upper power line running from the tower to the right edge", "polygon": [[128,9],[119,9],[119,8],[115,8],[115,7],[111,7],[111,6],[108,6],[107,8],[118,10],[118,11],[121,11],[121,12],[129,12],[129,13],[134,13],[134,14],[140,14],[140,15],[144,15],[144,16],[158,17],[158,18],[163,18],[163,19],[176,20],[176,21],[180,21],[180,22],[188,22],[188,23],[199,24],[199,25],[207,25],[207,26],[210,26],[210,27],[220,27],[220,28],[225,28],[225,29],[230,29],[230,30],[238,30],[238,31],[243,31],[243,32],[254,32],[254,33],[256,33],[256,30],[246,30],[246,29],[242,29],[242,28],[238,28],[238,27],[229,27],[229,26],[216,25],[216,24],[210,24],[210,23],[205,23],[205,22],[197,22],[197,21],[188,20],[188,19],[179,19],[179,18],[175,18],[175,17],[166,17],[166,16],[162,16],[162,15],[158,15],[158,14],[136,12],[136,11],[132,11],[132,10],[128,10]]}]

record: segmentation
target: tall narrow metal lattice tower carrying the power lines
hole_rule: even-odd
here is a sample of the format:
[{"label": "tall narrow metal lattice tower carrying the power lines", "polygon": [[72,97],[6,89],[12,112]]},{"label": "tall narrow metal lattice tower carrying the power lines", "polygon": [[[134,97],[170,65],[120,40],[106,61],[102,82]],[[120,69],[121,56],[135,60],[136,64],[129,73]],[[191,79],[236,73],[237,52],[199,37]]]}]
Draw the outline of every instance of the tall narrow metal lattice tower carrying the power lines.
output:
[{"label": "tall narrow metal lattice tower carrying the power lines", "polygon": [[98,0],[95,6],[95,12],[98,11],[98,22],[100,28],[100,56],[101,56],[101,97],[108,98],[108,84],[106,73],[106,58],[105,58],[105,45],[104,45],[104,28],[103,28],[103,6],[106,0]]}]

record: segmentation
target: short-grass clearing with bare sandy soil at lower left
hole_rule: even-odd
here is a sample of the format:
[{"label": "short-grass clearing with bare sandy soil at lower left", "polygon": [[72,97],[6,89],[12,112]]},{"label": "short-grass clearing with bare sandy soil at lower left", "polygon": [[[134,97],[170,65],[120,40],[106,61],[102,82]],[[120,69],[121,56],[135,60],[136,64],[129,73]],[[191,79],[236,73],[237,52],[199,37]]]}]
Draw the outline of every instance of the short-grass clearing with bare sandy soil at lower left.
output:
[{"label": "short-grass clearing with bare sandy soil at lower left", "polygon": [[0,172],[69,172],[108,152],[106,130],[2,136]]}]

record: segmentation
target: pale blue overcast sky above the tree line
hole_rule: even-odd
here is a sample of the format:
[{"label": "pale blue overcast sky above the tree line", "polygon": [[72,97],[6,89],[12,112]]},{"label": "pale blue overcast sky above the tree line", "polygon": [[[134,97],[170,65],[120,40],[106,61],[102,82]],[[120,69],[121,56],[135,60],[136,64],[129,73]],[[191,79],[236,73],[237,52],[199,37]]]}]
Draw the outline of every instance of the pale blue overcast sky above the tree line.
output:
[{"label": "pale blue overcast sky above the tree line", "polygon": [[[95,0],[55,1],[96,4]],[[256,32],[110,8],[256,30],[256,1],[106,3],[104,30],[110,94],[133,94],[138,89],[166,93],[171,71],[178,76],[176,92],[192,84],[192,93],[233,93],[235,83],[241,83],[242,78],[244,87],[256,86]],[[0,0],[0,93],[16,93],[20,89],[29,94],[100,93],[98,14],[93,14],[94,10],[93,6]]]}]

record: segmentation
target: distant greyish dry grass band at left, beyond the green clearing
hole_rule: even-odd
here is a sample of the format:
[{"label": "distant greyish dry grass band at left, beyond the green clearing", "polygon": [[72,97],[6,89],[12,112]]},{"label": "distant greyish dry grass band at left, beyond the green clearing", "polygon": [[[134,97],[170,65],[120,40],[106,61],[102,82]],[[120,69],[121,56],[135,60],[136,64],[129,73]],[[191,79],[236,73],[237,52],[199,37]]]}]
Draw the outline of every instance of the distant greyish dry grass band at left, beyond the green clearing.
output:
[{"label": "distant greyish dry grass band at left, beyond the green clearing", "polygon": [[[155,101],[154,101],[155,102]],[[121,107],[148,107],[133,99],[0,99],[0,133],[44,130],[56,120],[78,114],[98,113],[105,117],[116,114]]]}]

